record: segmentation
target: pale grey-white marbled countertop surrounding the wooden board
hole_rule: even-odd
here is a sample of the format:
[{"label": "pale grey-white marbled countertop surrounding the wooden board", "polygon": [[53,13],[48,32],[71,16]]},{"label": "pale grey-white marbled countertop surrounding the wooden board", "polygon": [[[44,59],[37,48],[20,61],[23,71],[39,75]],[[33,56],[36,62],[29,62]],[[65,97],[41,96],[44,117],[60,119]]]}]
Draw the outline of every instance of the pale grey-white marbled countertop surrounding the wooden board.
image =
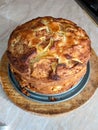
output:
[{"label": "pale grey-white marbled countertop surrounding the wooden board", "polygon": [[[0,58],[12,30],[38,16],[74,21],[88,33],[98,55],[98,26],[74,0],[0,0]],[[0,122],[9,130],[98,130],[98,90],[84,105],[57,116],[26,112],[12,103],[0,85]]]}]

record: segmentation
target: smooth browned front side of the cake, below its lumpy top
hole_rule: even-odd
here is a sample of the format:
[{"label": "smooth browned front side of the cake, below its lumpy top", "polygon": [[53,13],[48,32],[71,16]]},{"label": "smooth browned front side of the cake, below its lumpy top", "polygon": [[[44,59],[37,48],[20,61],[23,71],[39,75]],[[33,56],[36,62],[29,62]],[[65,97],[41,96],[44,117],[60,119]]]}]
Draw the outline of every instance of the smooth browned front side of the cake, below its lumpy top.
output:
[{"label": "smooth browned front side of the cake, below its lumpy top", "polygon": [[69,77],[64,77],[61,80],[57,80],[56,82],[46,81],[46,83],[38,80],[30,81],[29,79],[21,77],[21,75],[19,75],[15,71],[12,70],[12,72],[14,73],[16,80],[19,82],[21,90],[25,90],[25,92],[27,92],[27,89],[37,93],[57,94],[67,91],[73,86],[75,86],[85,74],[86,66],[83,67],[83,69],[79,73],[75,74],[75,76],[70,75]]}]

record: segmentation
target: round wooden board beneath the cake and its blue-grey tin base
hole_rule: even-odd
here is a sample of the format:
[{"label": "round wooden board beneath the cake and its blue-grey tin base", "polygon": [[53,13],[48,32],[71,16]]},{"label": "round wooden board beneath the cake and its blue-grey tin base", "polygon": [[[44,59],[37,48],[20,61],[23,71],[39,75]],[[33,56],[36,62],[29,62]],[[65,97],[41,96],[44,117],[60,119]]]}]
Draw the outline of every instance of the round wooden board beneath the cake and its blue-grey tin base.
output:
[{"label": "round wooden board beneath the cake and its blue-grey tin base", "polygon": [[1,59],[0,65],[0,75],[1,75],[1,82],[4,91],[6,92],[7,96],[10,100],[15,103],[20,108],[37,113],[37,114],[44,114],[44,115],[54,115],[54,114],[61,114],[72,111],[82,104],[84,104],[95,92],[98,87],[98,57],[96,56],[95,52],[92,50],[91,59],[91,72],[90,72],[90,79],[82,90],[80,94],[75,96],[74,98],[64,101],[57,104],[44,104],[29,100],[19,94],[16,89],[13,87],[9,80],[8,76],[8,59],[6,56],[6,52]]}]

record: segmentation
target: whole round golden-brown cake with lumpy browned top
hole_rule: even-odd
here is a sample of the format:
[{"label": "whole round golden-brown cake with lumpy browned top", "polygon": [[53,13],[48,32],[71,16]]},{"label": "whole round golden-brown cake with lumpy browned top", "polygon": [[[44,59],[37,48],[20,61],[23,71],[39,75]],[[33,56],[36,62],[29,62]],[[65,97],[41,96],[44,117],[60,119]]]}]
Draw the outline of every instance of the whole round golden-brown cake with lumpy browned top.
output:
[{"label": "whole round golden-brown cake with lumpy browned top", "polygon": [[[41,93],[52,93],[49,86],[61,85],[66,90],[85,74],[90,51],[89,37],[72,21],[38,17],[12,32],[7,55],[11,68],[21,80],[34,84]],[[73,85],[68,85],[73,75]],[[47,92],[40,89],[45,86]],[[53,93],[61,91],[59,87],[58,90]]]}]

